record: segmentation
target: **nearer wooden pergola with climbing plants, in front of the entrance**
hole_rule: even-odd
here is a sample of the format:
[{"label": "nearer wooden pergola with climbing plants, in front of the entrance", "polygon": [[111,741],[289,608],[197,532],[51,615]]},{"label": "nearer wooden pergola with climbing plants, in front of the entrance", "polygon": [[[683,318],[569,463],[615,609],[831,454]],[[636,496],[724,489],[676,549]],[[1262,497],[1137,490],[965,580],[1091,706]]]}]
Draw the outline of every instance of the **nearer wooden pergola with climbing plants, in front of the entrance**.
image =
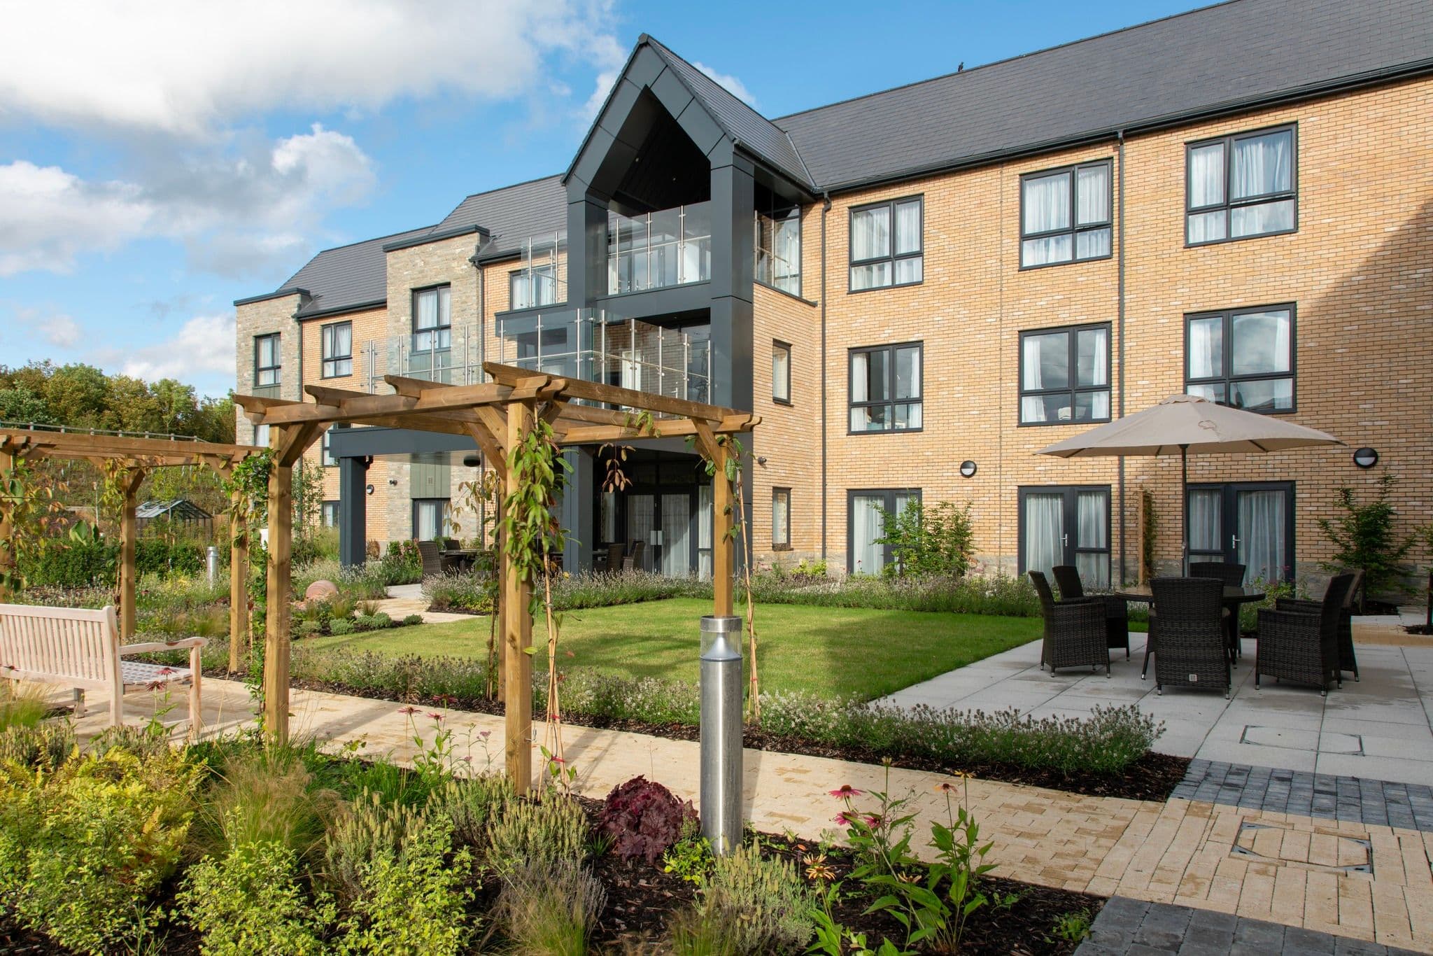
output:
[{"label": "nearer wooden pergola with climbing plants, in front of the entrance", "polygon": [[[235,396],[254,424],[269,427],[274,464],[269,472],[268,619],[264,656],[265,728],[275,740],[288,735],[289,679],[289,559],[292,548],[292,467],[324,430],[335,423],[444,431],[471,437],[489,467],[507,483],[507,451],[527,436],[537,419],[553,429],[559,446],[609,444],[652,437],[692,436],[715,463],[712,487],[714,612],[732,613],[734,540],[721,522],[731,520],[732,486],[727,480],[729,446],[724,436],[749,431],[757,416],[735,408],[619,388],[593,381],[533,373],[484,363],[493,378],[477,386],[449,386],[420,378],[384,376],[394,394],[368,394],[307,386],[314,401]],[[615,406],[615,407],[606,407]],[[622,408],[622,410],[618,410]],[[513,784],[532,785],[532,582],[522,580],[506,553],[499,558],[503,582],[503,682],[506,685],[506,763]]]}]

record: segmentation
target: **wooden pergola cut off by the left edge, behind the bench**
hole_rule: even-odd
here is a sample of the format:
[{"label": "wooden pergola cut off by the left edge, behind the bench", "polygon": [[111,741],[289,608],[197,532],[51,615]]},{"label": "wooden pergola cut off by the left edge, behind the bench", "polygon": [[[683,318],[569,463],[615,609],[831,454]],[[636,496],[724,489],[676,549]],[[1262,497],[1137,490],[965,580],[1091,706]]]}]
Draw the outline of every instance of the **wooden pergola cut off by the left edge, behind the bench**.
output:
[{"label": "wooden pergola cut off by the left edge, behind the bench", "polygon": [[[123,505],[119,519],[119,636],[130,641],[135,636],[135,542],[139,539],[139,525],[135,510],[139,506],[139,484],[145,476],[162,467],[208,466],[219,474],[229,474],[244,459],[262,453],[246,444],[215,444],[211,441],[189,441],[179,439],[132,439],[119,434],[85,431],[46,431],[40,429],[0,429],[0,473],[9,472],[17,460],[26,459],[77,459],[105,467],[118,466]],[[235,493],[238,494],[238,493]],[[13,502],[0,496],[0,540],[11,535],[10,516]],[[248,592],[248,537],[244,527],[232,527],[229,536],[229,669],[239,669],[242,636],[249,628]],[[0,562],[11,559],[10,552],[0,550]],[[4,583],[0,582],[0,601]]]}]

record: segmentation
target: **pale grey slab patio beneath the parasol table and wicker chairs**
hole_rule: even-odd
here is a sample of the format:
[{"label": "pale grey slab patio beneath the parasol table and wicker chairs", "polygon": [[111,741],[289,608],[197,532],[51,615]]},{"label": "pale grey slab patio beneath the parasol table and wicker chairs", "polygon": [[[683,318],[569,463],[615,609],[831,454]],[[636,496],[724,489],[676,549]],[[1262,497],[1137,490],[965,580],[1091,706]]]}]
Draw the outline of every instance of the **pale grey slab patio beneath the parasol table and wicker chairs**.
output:
[{"label": "pale grey slab patio beneath the parasol table and wicker chairs", "polygon": [[[1393,622],[1356,623],[1361,681],[1328,697],[1265,678],[1254,688],[1255,642],[1244,639],[1230,699],[1212,691],[1165,688],[1139,679],[1145,635],[1131,634],[1131,656],[1113,654],[1112,675],[1055,675],[1039,666],[1040,642],[1012,648],[884,698],[900,707],[1003,709],[1032,717],[1088,717],[1098,705],[1138,704],[1166,722],[1155,750],[1214,763],[1433,784],[1433,639],[1400,634]],[[1409,622],[1420,622],[1409,618]],[[1391,644],[1401,638],[1401,645]],[[1364,644],[1363,641],[1377,641]]]}]

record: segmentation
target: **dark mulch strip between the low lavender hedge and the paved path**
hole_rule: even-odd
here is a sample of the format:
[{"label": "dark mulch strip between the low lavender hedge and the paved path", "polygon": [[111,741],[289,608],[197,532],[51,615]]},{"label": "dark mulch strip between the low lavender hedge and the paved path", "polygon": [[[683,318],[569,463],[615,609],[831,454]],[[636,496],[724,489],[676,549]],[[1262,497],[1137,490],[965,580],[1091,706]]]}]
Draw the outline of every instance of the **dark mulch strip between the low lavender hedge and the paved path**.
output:
[{"label": "dark mulch strip between the low lavender hedge and the paved path", "polygon": [[[208,674],[208,677],[232,678],[224,671]],[[391,695],[373,688],[348,687],[331,681],[294,681],[294,687],[310,691],[325,691],[328,694],[345,694],[373,701],[388,701]],[[503,705],[486,698],[461,699],[411,699],[398,701],[401,704],[421,704],[426,707],[449,707],[457,711],[471,711],[479,714],[502,715]],[[618,730],[635,734],[649,734],[668,740],[699,740],[701,731],[692,724],[649,724],[646,721],[613,720],[600,715],[566,714],[567,725],[592,727],[598,730]],[[1066,774],[1059,770],[1020,767],[1017,764],[962,764],[920,755],[884,754],[863,747],[837,747],[820,741],[801,740],[797,737],[780,737],[765,734],[759,728],[747,728],[745,747],[748,750],[772,751],[782,754],[804,754],[807,757],[827,757],[830,760],[844,760],[857,764],[880,764],[890,758],[891,767],[906,770],[926,770],[931,773],[960,771],[982,780],[997,780],[1007,784],[1026,784],[1030,787],[1048,787],[1063,790],[1065,793],[1085,797],[1123,797],[1125,800],[1155,800],[1164,801],[1174,793],[1174,788],[1184,780],[1185,768],[1189,765],[1188,757],[1171,757],[1168,754],[1148,752],[1134,764],[1116,774],[1079,773]]]}]

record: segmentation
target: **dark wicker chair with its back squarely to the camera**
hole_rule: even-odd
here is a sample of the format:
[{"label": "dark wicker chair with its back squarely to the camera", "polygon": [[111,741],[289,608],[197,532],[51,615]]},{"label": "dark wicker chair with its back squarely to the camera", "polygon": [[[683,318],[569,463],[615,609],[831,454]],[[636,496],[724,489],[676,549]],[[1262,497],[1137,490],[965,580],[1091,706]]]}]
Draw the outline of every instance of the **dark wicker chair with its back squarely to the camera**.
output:
[{"label": "dark wicker chair with its back squarely to the camera", "polygon": [[1155,655],[1155,692],[1168,687],[1222,689],[1230,697],[1224,583],[1215,578],[1155,578],[1145,668]]}]

